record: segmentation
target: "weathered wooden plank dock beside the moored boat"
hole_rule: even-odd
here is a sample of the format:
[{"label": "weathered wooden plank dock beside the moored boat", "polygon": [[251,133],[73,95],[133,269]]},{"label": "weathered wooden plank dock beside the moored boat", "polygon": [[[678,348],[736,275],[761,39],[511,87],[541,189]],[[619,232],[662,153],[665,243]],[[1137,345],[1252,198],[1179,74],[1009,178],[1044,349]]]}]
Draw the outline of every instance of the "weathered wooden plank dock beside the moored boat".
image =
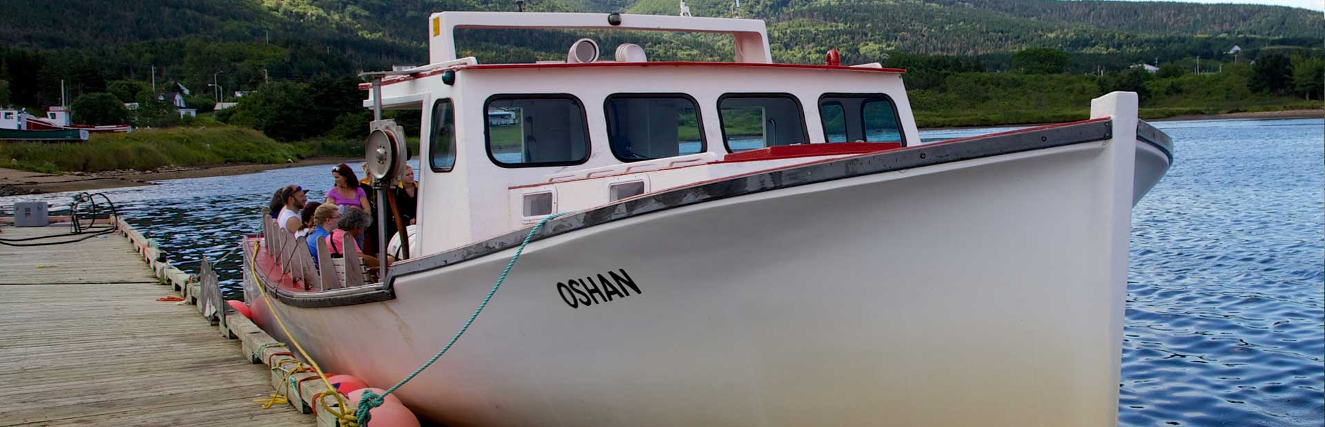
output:
[{"label": "weathered wooden plank dock beside the moored boat", "polygon": [[[65,226],[3,227],[15,239]],[[58,238],[49,241],[60,241]],[[0,426],[314,426],[122,235],[0,246]]]}]

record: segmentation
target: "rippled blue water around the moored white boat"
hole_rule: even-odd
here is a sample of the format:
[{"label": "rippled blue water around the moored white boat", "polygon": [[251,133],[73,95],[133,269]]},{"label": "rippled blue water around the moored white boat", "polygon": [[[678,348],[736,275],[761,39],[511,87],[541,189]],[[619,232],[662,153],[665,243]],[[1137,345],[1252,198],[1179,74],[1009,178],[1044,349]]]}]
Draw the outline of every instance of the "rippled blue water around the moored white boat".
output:
[{"label": "rippled blue water around the moored white boat", "polygon": [[[1159,122],[1177,164],[1133,209],[1120,426],[1320,426],[1325,416],[1325,120]],[[921,132],[925,140],[1011,128]],[[417,163],[415,169],[417,169]],[[172,260],[257,230],[284,184],[331,167],[106,190]],[[70,194],[0,198],[68,205]],[[184,264],[184,270],[196,268]],[[240,262],[217,267],[235,287]]]}]

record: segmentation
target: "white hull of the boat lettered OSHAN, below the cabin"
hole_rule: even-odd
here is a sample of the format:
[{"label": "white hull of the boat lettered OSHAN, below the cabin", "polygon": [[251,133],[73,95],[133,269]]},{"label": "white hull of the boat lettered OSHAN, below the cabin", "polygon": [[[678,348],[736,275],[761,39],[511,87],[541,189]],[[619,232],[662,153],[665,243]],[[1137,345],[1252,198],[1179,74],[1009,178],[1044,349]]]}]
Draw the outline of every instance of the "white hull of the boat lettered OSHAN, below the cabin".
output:
[{"label": "white hull of the boat lettered OSHAN, below the cabin", "polygon": [[[535,241],[399,397],[450,426],[1116,426],[1130,208],[1169,161],[1113,120],[1106,141]],[[388,387],[513,254],[401,276],[386,301],[273,304],[325,369]]]}]

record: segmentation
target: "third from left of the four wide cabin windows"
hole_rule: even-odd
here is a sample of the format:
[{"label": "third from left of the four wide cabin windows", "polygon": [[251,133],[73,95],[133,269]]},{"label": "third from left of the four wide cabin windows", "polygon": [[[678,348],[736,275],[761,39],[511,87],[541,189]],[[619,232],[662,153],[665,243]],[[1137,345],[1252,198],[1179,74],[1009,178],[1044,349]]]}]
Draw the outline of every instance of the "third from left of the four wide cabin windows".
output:
[{"label": "third from left of the four wide cabin windows", "polygon": [[727,151],[810,143],[800,102],[790,94],[726,94],[718,119]]}]

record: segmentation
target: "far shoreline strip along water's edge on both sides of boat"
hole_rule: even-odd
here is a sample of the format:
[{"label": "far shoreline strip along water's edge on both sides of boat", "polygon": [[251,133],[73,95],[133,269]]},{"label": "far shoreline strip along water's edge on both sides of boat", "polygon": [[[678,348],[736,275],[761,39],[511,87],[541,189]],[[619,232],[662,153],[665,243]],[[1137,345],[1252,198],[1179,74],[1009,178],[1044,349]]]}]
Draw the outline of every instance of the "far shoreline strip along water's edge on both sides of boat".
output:
[{"label": "far shoreline strip along water's edge on both sides of boat", "polygon": [[[1325,110],[1283,110],[1283,111],[1251,111],[1251,112],[1224,112],[1224,114],[1198,114],[1177,115],[1162,119],[1149,119],[1146,122],[1173,122],[1173,120],[1235,120],[1235,119],[1318,119],[1325,116]],[[982,124],[982,126],[954,126],[954,127],[928,127],[921,131],[969,130],[986,127],[1016,127],[1041,126],[1052,123],[1014,123],[1014,124]],[[245,163],[224,164],[199,168],[176,168],[170,171],[109,171],[94,173],[38,173],[17,169],[0,168],[0,197],[20,194],[41,194],[60,192],[85,192],[113,188],[154,185],[150,181],[204,178],[216,176],[232,176],[256,173],[272,169],[298,168],[323,164],[338,164],[359,161],[362,159],[347,157],[313,157],[295,163]]]}]

